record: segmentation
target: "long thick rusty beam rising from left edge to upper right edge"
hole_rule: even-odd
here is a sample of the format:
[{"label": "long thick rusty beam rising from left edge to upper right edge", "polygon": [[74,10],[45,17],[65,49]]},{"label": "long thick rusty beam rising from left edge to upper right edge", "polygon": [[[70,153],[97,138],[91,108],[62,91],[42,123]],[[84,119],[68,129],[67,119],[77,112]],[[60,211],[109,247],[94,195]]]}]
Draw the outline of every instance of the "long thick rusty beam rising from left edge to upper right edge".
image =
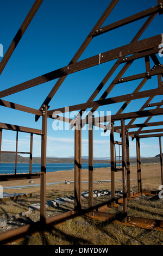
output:
[{"label": "long thick rusty beam rising from left edge to upper right edge", "polygon": [[143,39],[135,43],[130,43],[128,45],[124,45],[124,46],[115,48],[113,50],[97,54],[96,56],[93,56],[84,60],[80,60],[77,63],[72,63],[68,66],[65,66],[64,68],[54,70],[42,76],[33,78],[32,80],[18,84],[17,86],[10,87],[9,89],[5,89],[0,92],[0,97],[5,97],[17,92],[21,92],[22,90],[32,88],[34,86],[37,86],[39,84],[42,84],[48,81],[52,81],[59,77],[64,77],[64,76],[73,74],[74,72],[77,72],[80,70],[91,68],[92,66],[109,62],[110,60],[114,60],[120,57],[127,56],[129,54],[133,54],[136,52],[145,51],[148,49],[152,49],[154,47],[158,47],[161,44],[161,40],[162,40],[162,35],[159,34],[159,35],[152,36],[151,38]]}]

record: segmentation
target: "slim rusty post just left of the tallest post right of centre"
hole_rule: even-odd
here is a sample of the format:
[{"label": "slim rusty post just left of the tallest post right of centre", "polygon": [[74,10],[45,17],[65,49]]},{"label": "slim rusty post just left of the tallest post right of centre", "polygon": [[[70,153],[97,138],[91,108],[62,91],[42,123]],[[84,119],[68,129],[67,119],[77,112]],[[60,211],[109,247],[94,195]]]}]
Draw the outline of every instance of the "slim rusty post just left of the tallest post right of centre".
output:
[{"label": "slim rusty post just left of the tallest post right of centre", "polygon": [[110,162],[111,162],[111,200],[115,204],[115,156],[114,156],[114,123],[110,127]]}]

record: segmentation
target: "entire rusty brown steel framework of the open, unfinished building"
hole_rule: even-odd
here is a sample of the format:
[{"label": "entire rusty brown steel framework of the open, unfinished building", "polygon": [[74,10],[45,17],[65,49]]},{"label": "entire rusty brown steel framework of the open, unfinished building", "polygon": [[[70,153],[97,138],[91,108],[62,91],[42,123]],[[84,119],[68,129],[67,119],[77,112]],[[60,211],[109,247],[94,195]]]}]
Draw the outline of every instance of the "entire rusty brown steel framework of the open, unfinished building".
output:
[{"label": "entire rusty brown steel framework of the open, unfinished building", "polygon": [[[43,0],[42,0],[43,1]],[[22,35],[26,31],[30,21],[33,19],[36,11],[39,9],[42,1],[36,0],[33,7],[29,11],[26,19],[22,23],[22,26],[18,30],[14,40],[12,40],[10,47],[8,48],[7,53],[4,55],[2,62],[0,63],[0,75],[7,64],[9,58],[11,57],[12,52],[14,52],[15,47],[17,46],[18,42],[21,40]],[[153,130],[143,130],[143,127],[152,127],[162,125],[163,122],[157,121],[153,123],[149,123],[149,120],[155,115],[162,115],[162,104],[161,102],[150,103],[154,96],[162,95],[162,82],[161,77],[163,77],[163,65],[159,62],[158,58],[156,57],[156,53],[158,53],[158,46],[161,44],[162,34],[152,36],[151,38],[146,38],[143,40],[139,40],[142,33],[148,27],[148,25],[152,22],[154,17],[159,14],[163,13],[162,5],[163,1],[158,0],[158,4],[152,8],[147,10],[141,11],[135,15],[131,15],[125,19],[120,21],[114,22],[110,25],[102,27],[104,21],[109,16],[111,11],[115,8],[118,0],[112,0],[109,4],[108,8],[104,11],[101,18],[98,20],[96,25],[93,27],[92,31],[84,40],[83,44],[80,46],[77,53],[74,55],[70,63],[65,66],[64,68],[60,68],[58,70],[54,70],[49,72],[45,75],[33,78],[32,80],[23,82],[18,84],[17,86],[10,87],[8,89],[2,90],[0,92],[0,97],[5,97],[11,94],[15,94],[22,90],[26,90],[28,88],[32,88],[37,86],[41,83],[45,83],[48,81],[52,81],[55,78],[59,78],[57,83],[55,83],[54,87],[52,88],[51,92],[46,97],[45,101],[42,103],[39,109],[30,108],[27,106],[18,105],[17,103],[9,102],[6,100],[0,100],[0,105],[3,107],[17,109],[19,111],[24,111],[27,113],[31,113],[35,115],[35,121],[37,121],[40,117],[42,117],[42,129],[32,129],[28,127],[16,126],[11,124],[3,124],[0,123],[0,157],[1,157],[1,144],[2,144],[2,130],[14,130],[16,131],[16,161],[15,161],[15,174],[9,175],[0,175],[0,180],[17,180],[17,179],[29,179],[29,178],[40,178],[41,186],[40,186],[40,221],[35,223],[33,226],[33,230],[31,230],[31,225],[26,225],[24,227],[16,229],[16,237],[24,236],[30,230],[30,234],[33,234],[37,231],[38,228],[41,230],[45,229],[48,225],[57,224],[59,222],[65,221],[67,218],[72,218],[78,215],[86,215],[90,217],[97,216],[97,219],[100,217],[106,218],[106,220],[115,220],[116,216],[112,216],[110,214],[105,214],[104,212],[100,212],[100,209],[107,208],[110,206],[117,206],[120,202],[123,205],[123,218],[121,222],[123,224],[129,225],[129,219],[136,223],[151,223],[151,220],[138,220],[138,218],[130,217],[127,215],[127,200],[131,198],[135,198],[139,196],[142,192],[150,194],[150,193],[158,193],[155,192],[147,192],[142,190],[141,184],[141,156],[140,156],[140,139],[141,138],[148,138],[148,137],[159,137],[159,145],[160,145],[160,165],[161,165],[161,184],[163,185],[163,173],[162,173],[162,150],[161,150],[161,136],[163,133],[155,133],[155,132],[162,132],[162,129],[153,129]],[[125,26],[131,22],[143,19],[148,17],[146,22],[140,28],[139,32],[135,35],[133,40],[131,40],[130,44],[124,45],[113,50],[106,51],[104,53],[99,54],[84,60],[80,60],[78,62],[79,57],[85,51],[86,47],[90,44],[93,38],[99,36],[103,33],[109,32],[112,29],[116,29],[118,27]],[[130,56],[128,56],[130,55]],[[145,59],[145,72],[141,74],[136,74],[128,77],[123,77],[124,73],[129,69],[130,65],[136,59]],[[153,68],[151,68],[150,58],[154,62]],[[48,104],[52,100],[55,93],[61,86],[62,82],[64,82],[67,75],[72,74],[73,72],[78,72],[80,70],[91,68],[92,66],[99,65],[105,62],[109,62],[110,60],[117,59],[115,64],[109,70],[108,74],[104,77],[103,81],[99,84],[99,86],[95,89],[93,94],[90,96],[89,100],[85,103],[81,103],[78,105],[70,106],[69,108],[58,108],[48,110]],[[105,90],[103,95],[97,101],[93,101],[95,97],[101,92],[102,88],[108,82],[109,78],[114,74],[115,70],[118,68],[120,64],[124,64],[121,71],[115,77],[115,79],[110,83],[109,87]],[[140,92],[140,89],[144,86],[144,84],[152,78],[152,76],[158,77],[158,88],[145,90]],[[134,81],[142,79],[142,82],[137,86],[131,94],[120,95],[115,97],[106,98],[111,90],[116,86],[116,84],[122,84],[128,81]],[[122,113],[124,109],[129,105],[132,100],[136,99],[143,99],[148,98],[146,103],[140,108],[139,111],[130,112],[130,113]],[[82,209],[82,120],[81,124],[77,124],[77,118],[82,114],[82,111],[86,111],[87,108],[92,108],[91,113],[95,112],[99,106],[110,105],[117,102],[124,102],[122,107],[117,111],[116,114],[111,115],[111,124],[103,125],[100,123],[99,119],[92,118],[93,126],[103,127],[104,132],[106,132],[109,127],[110,130],[110,160],[111,160],[111,200],[109,202],[105,202],[102,205],[93,205],[93,129],[89,125],[89,203],[88,209]],[[156,107],[155,109],[148,109],[145,108]],[[70,112],[78,110],[79,113],[74,119],[68,119],[65,117],[60,117],[59,115],[54,115],[54,111],[61,111],[62,113]],[[85,124],[88,124],[88,115],[85,118]],[[146,121],[141,124],[133,124],[137,118],[145,118],[147,117]],[[65,121],[71,123],[71,127],[75,127],[74,129],[74,211],[69,211],[67,213],[54,216],[52,218],[46,218],[46,150],[47,150],[47,118],[51,119],[58,119],[61,121]],[[125,125],[125,121],[129,120],[129,123]],[[104,123],[108,120],[106,116],[102,117]],[[114,123],[116,121],[121,121],[120,126],[115,126]],[[129,129],[139,128],[137,131],[129,131]],[[29,167],[29,174],[17,174],[16,173],[16,163],[17,163],[17,154],[20,153],[17,151],[17,143],[18,143],[18,132],[29,132],[30,133],[30,152],[26,153],[30,156],[30,167]],[[121,142],[114,141],[114,132],[120,133]],[[150,133],[149,135],[142,135],[143,133]],[[32,148],[33,148],[33,134],[37,134],[41,136],[41,172],[40,173],[32,173]],[[129,158],[129,136],[132,139],[136,139],[136,157],[137,157],[137,187],[138,192],[137,194],[130,193],[130,158]],[[114,146],[115,144],[119,144],[122,146],[122,183],[123,183],[123,197],[119,200],[115,197],[115,153],[114,153]],[[25,154],[25,153],[24,153]],[[118,202],[118,203],[117,203]],[[153,221],[153,220],[152,220]],[[158,224],[159,222],[159,224]],[[163,229],[163,224],[161,221],[154,222],[155,227],[159,230]],[[145,226],[142,224],[142,227]],[[147,228],[147,227],[146,227]],[[15,236],[15,230],[7,231],[3,234],[0,234],[0,243],[7,242],[9,240],[13,240]]]}]

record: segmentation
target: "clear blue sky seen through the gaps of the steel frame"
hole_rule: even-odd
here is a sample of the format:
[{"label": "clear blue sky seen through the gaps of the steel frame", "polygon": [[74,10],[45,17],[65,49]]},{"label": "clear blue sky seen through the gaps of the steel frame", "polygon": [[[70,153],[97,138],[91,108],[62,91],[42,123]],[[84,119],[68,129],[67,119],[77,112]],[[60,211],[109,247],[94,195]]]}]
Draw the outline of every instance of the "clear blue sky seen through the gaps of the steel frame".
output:
[{"label": "clear blue sky seen through the gaps of the steel frame", "polygon": [[[110,2],[106,0],[44,0],[0,76],[1,90],[66,66]],[[3,45],[4,53],[7,51],[33,3],[34,0],[1,1],[0,44]],[[148,9],[156,4],[156,0],[120,0],[103,26]],[[79,60],[129,44],[146,20],[147,18],[136,21],[94,38]],[[161,20],[162,16],[157,15],[140,39],[162,33]],[[158,58],[162,62],[162,59]],[[1,60],[2,57],[0,57]],[[86,102],[114,63],[115,60],[69,75],[53,97],[49,104],[49,109]],[[152,62],[151,65],[153,65]],[[117,69],[114,76],[105,84],[95,100],[99,99],[121,68],[122,66],[120,65],[120,68]],[[145,72],[145,62],[143,60],[136,60],[124,76],[139,74],[139,72]],[[41,84],[3,99],[39,109],[56,81]],[[132,83],[128,82],[120,86],[117,85],[108,97],[131,93],[140,82],[141,80],[137,80]],[[155,87],[156,78],[154,77],[145,84],[142,90]],[[139,111],[146,100],[136,100],[130,103],[124,112]],[[162,97],[157,96],[152,102],[161,100]],[[122,103],[118,103],[101,107],[99,111],[105,111],[105,113],[106,111],[111,111],[111,114],[115,114],[121,106]],[[139,119],[137,123],[144,120]],[[151,121],[158,120],[161,120],[161,117],[153,117],[151,119]],[[35,122],[34,115],[5,107],[1,107],[1,122],[41,129],[41,118]],[[53,125],[53,120],[48,119],[47,156],[73,156],[74,131],[54,131]],[[87,131],[82,132],[83,156],[88,155],[87,133]],[[18,150],[29,150],[29,135],[27,133],[19,134]],[[15,132],[4,130],[2,150],[15,150],[15,138]],[[94,139],[94,156],[110,156],[109,136],[103,136],[102,130],[99,129],[94,132]],[[115,139],[120,141],[120,136],[116,134]],[[159,154],[159,139],[141,139],[141,155],[152,157],[156,154]],[[40,137],[35,136],[34,156],[39,155]],[[130,141],[130,155],[136,155],[135,141]]]}]

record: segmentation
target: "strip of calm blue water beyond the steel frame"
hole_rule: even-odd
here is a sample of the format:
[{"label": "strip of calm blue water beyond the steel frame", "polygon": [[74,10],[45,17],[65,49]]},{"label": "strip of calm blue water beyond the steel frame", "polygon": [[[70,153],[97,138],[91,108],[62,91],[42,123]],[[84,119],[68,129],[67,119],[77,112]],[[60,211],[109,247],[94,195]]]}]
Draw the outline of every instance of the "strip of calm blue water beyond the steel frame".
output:
[{"label": "strip of calm blue water beyond the steel frame", "polygon": [[[73,170],[74,163],[47,163],[47,172],[57,172],[59,170]],[[82,163],[83,169],[88,169],[88,163]],[[106,163],[94,163],[94,168],[110,167],[110,164]],[[17,173],[29,173],[29,164],[28,163],[17,163]],[[41,164],[33,163],[32,172],[40,172]],[[0,174],[11,174],[15,173],[15,163],[1,163],[0,164]]]}]

